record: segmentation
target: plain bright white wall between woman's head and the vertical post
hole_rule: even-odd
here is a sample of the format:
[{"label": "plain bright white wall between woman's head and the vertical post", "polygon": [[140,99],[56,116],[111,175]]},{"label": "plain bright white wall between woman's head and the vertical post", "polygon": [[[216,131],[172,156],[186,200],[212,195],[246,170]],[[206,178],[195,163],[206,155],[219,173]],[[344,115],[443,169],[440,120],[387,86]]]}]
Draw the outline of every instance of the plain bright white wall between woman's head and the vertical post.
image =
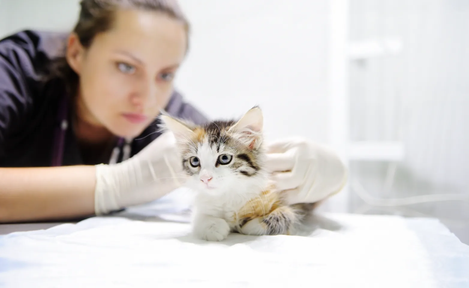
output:
[{"label": "plain bright white wall between woman's head and the vertical post", "polygon": [[212,117],[265,113],[267,137],[327,140],[327,1],[181,0],[193,35],[178,76]]}]

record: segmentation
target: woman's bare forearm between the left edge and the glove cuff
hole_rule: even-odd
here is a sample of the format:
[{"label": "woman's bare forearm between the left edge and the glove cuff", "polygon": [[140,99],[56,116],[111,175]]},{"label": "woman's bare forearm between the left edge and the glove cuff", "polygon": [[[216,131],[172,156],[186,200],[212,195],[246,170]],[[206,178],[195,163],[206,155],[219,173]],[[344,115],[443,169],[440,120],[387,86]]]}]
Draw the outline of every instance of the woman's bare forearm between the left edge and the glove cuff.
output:
[{"label": "woman's bare forearm between the left edge and the glove cuff", "polygon": [[94,213],[94,166],[0,168],[0,223]]}]

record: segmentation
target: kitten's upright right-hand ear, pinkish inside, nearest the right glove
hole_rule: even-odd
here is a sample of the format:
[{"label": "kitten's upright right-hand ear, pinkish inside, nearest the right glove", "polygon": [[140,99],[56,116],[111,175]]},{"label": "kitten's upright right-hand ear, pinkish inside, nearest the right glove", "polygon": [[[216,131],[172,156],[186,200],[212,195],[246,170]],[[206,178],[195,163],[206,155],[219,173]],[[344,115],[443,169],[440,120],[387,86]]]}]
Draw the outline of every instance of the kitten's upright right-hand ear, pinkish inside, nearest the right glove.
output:
[{"label": "kitten's upright right-hand ear, pinkish inside, nearest the right glove", "polygon": [[259,107],[251,108],[228,131],[239,134],[249,149],[257,149],[262,143],[264,116]]}]

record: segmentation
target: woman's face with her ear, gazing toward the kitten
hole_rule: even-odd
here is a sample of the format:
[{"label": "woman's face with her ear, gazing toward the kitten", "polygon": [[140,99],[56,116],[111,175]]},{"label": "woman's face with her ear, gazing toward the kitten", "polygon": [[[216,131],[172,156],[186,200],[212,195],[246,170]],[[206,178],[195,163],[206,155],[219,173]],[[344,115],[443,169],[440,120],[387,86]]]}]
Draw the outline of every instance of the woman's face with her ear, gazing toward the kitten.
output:
[{"label": "woman's face with her ear, gazing toward the kitten", "polygon": [[116,12],[113,27],[88,49],[72,36],[68,62],[80,76],[81,120],[135,137],[163,109],[186,53],[183,23],[158,12]]}]

